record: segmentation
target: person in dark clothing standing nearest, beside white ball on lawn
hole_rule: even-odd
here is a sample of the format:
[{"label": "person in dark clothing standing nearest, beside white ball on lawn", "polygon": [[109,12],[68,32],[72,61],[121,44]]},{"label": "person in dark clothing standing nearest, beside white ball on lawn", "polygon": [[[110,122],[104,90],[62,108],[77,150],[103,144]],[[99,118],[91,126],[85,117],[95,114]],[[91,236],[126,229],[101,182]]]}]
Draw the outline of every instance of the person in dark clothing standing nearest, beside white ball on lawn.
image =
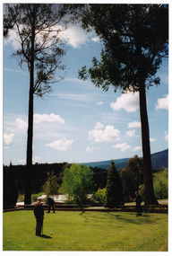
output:
[{"label": "person in dark clothing standing nearest, beside white ball on lawn", "polygon": [[34,206],[34,215],[36,217],[36,235],[40,235],[43,229],[43,220],[44,220],[44,208],[41,204],[41,199],[38,199],[38,202]]}]

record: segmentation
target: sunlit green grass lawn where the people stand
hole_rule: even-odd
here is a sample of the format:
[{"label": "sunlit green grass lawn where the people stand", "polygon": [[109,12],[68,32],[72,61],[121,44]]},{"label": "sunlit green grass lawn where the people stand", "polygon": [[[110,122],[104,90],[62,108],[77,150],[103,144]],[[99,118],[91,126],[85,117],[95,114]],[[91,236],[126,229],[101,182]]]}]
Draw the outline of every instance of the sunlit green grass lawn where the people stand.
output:
[{"label": "sunlit green grass lawn where the people stand", "polygon": [[167,214],[45,213],[45,237],[35,235],[35,225],[30,210],[4,213],[4,251],[168,251]]}]

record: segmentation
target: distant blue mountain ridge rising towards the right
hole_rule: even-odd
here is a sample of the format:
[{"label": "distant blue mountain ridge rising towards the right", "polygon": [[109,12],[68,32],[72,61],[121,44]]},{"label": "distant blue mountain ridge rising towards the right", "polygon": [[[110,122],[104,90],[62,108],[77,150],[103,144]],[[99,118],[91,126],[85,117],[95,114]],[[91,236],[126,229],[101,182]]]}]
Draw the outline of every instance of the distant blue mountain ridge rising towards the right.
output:
[{"label": "distant blue mountain ridge rising towards the right", "polygon": [[[130,157],[131,158],[131,157]],[[112,159],[116,163],[117,170],[125,168],[130,158]],[[111,160],[82,163],[92,168],[98,167],[107,170],[109,168]],[[151,154],[151,165],[153,170],[159,170],[161,168],[168,168],[168,149]]]}]

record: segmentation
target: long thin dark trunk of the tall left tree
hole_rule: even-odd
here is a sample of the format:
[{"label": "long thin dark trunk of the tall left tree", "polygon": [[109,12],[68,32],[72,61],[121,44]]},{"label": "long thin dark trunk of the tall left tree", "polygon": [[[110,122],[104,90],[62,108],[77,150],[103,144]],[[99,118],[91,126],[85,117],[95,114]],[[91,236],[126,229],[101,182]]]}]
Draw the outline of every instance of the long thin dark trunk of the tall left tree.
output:
[{"label": "long thin dark trunk of the tall left tree", "polygon": [[33,94],[34,94],[34,43],[35,43],[35,14],[33,7],[32,14],[32,36],[30,53],[30,98],[29,98],[29,117],[28,117],[28,140],[27,140],[27,159],[25,173],[25,204],[31,204],[31,172],[32,172],[32,144],[33,144]]}]

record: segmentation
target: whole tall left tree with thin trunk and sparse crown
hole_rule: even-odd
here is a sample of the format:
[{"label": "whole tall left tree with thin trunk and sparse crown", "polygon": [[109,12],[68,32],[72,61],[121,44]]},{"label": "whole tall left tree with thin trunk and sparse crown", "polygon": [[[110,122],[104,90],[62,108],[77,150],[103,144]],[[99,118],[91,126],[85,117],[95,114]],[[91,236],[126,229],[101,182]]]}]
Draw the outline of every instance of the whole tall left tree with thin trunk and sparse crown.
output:
[{"label": "whole tall left tree with thin trunk and sparse crown", "polygon": [[[66,30],[67,19],[62,4],[5,4],[4,36],[16,31],[20,48],[13,54],[30,75],[28,138],[26,157],[25,203],[30,204],[30,181],[33,141],[34,95],[43,97],[52,91],[51,84],[63,79],[65,45],[60,33]],[[58,74],[56,74],[58,70]]]}]

